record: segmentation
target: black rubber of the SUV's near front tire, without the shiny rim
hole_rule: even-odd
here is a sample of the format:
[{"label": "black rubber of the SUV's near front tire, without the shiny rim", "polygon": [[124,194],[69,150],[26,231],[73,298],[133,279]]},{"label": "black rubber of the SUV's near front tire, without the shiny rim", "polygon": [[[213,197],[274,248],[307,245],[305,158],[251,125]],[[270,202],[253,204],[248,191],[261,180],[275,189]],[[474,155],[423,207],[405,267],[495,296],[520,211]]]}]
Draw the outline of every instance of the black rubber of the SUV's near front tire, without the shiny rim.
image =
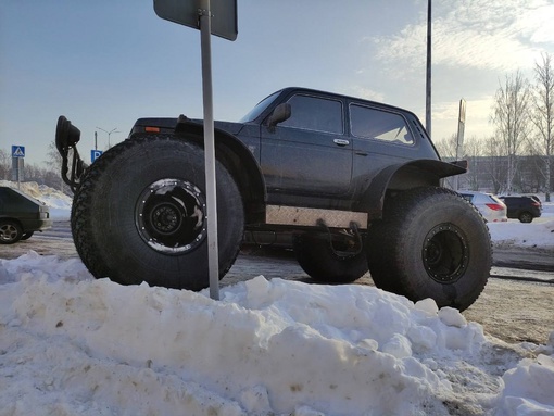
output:
[{"label": "black rubber of the SUV's near front tire, without the shiny rim", "polygon": [[[160,163],[159,154],[165,157]],[[190,176],[202,182],[196,184],[202,190],[204,171],[200,166],[203,160],[203,149],[194,143],[172,135],[146,136],[116,144],[85,172],[74,196],[71,223],[77,252],[95,277],[110,277],[122,285],[147,281],[151,286],[178,289],[200,290],[207,287],[206,240],[187,253],[160,253],[140,239],[133,219],[133,206],[140,194],[137,189],[143,187],[142,184]],[[222,278],[239,253],[244,215],[237,185],[219,163],[216,164],[216,175]],[[119,212],[122,206],[127,207],[126,214]],[[123,215],[127,215],[124,220]],[[106,222],[110,224],[104,224]]]}]

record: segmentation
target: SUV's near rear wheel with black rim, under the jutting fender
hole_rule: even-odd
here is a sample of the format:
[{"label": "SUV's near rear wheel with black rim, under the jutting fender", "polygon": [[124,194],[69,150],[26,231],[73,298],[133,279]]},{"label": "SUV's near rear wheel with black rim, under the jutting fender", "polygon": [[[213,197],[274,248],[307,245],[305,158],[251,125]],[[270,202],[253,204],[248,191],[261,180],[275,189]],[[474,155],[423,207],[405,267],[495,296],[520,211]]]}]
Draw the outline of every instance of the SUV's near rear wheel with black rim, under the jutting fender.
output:
[{"label": "SUV's near rear wheel with black rim, under the jutting fender", "polygon": [[489,230],[479,212],[445,188],[417,188],[388,199],[383,220],[368,229],[369,273],[377,287],[416,302],[461,311],[487,285]]}]

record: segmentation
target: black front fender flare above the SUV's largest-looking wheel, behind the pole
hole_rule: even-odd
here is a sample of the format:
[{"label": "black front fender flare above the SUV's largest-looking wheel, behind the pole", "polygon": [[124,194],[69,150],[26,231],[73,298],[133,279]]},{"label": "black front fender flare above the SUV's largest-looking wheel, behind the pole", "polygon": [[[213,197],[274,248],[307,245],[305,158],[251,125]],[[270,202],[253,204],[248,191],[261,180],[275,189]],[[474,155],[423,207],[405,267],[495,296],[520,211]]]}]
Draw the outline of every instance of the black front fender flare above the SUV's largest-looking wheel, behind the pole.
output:
[{"label": "black front fender flare above the SUV's largest-looking wheel, behind the pole", "polygon": [[[204,148],[204,126],[179,117],[175,127],[177,137],[186,136]],[[265,179],[256,159],[248,147],[228,131],[214,128],[215,157],[229,171],[242,194],[245,224],[265,222],[267,200]]]}]

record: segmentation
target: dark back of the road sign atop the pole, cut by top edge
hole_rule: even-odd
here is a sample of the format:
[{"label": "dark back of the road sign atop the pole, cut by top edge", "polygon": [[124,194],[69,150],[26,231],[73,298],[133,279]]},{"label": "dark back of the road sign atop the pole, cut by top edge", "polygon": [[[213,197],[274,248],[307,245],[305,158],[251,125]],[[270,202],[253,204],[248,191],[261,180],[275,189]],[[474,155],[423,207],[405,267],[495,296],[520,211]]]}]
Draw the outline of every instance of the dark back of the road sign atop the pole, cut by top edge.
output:
[{"label": "dark back of the road sign atop the pole, cut by top edge", "polygon": [[[154,12],[159,17],[200,29],[200,0],[154,0]],[[211,33],[228,40],[237,39],[237,0],[211,0]]]}]

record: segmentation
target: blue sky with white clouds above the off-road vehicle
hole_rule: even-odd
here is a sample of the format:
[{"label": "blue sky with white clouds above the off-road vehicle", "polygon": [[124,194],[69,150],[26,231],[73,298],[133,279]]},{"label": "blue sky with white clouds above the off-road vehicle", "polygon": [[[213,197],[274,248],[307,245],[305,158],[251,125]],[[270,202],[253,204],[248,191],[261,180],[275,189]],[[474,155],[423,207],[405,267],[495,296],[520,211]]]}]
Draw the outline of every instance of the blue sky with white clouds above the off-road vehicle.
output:
[{"label": "blue sky with white clouds above the off-road vehicle", "polygon": [[[505,76],[532,80],[554,53],[553,0],[433,0],[432,137],[492,134]],[[414,111],[425,123],[426,0],[238,0],[236,41],[213,37],[214,116],[237,121],[287,86]],[[0,0],[0,148],[48,160],[58,116],[87,159],[143,116],[202,117],[200,33],[156,16],[152,0]]]}]

